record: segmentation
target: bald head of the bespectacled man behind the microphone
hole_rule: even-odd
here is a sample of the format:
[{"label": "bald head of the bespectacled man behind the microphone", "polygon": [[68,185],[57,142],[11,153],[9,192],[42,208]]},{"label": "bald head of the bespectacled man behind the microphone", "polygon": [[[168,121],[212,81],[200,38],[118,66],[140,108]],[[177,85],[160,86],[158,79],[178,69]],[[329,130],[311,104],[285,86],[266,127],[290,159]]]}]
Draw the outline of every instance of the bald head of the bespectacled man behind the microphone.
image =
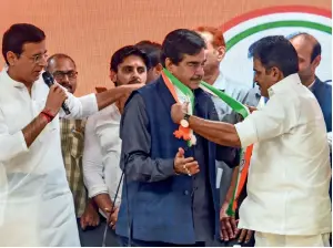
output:
[{"label": "bald head of the bespectacled man behind the microphone", "polygon": [[54,80],[72,94],[77,90],[77,65],[72,58],[63,53],[57,53],[48,59],[46,69]]}]

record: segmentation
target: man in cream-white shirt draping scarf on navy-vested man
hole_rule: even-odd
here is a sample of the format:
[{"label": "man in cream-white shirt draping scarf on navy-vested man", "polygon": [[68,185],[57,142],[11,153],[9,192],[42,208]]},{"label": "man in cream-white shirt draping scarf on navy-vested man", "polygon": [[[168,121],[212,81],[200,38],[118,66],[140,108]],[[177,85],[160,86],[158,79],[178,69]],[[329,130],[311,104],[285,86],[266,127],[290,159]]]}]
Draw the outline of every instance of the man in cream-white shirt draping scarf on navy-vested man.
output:
[{"label": "man in cream-white shirt draping scarf on navy-vested man", "polygon": [[255,231],[255,246],[329,246],[330,151],[320,105],[301,83],[297,53],[289,40],[263,38],[251,53],[254,81],[269,97],[261,110],[232,125],[184,113],[182,104],[174,104],[172,118],[188,120],[190,128],[216,144],[254,144],[239,227]]}]

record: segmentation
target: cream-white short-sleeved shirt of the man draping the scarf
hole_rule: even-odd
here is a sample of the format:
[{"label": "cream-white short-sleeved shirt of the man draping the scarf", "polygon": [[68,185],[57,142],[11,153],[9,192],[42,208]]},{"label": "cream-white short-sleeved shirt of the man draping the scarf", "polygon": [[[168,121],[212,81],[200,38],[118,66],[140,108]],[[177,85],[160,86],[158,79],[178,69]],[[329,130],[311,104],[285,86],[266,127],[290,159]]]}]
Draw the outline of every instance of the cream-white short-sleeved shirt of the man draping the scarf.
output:
[{"label": "cream-white short-sleeved shirt of the man draping the scarf", "polygon": [[270,101],[235,125],[254,144],[240,227],[279,235],[332,231],[330,151],[321,107],[292,74],[269,89]]}]

